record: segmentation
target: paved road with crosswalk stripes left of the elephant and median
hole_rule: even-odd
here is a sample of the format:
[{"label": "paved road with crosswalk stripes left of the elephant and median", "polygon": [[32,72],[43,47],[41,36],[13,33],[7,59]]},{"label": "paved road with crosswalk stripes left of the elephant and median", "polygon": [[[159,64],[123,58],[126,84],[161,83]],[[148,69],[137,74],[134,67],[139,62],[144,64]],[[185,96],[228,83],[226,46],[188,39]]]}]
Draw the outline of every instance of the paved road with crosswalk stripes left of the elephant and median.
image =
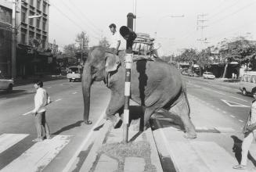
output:
[{"label": "paved road with crosswalk stripes left of the elephant and median", "polygon": [[[37,135],[34,118],[28,113],[34,108],[33,84],[15,87],[12,93],[0,92],[1,171],[61,171],[92,132],[93,124],[82,123],[81,82],[48,81],[44,88],[53,100],[46,115],[54,137],[38,143],[31,142]],[[103,116],[109,98],[103,83],[93,85],[90,119],[94,124]],[[81,159],[73,158],[78,163]]]}]

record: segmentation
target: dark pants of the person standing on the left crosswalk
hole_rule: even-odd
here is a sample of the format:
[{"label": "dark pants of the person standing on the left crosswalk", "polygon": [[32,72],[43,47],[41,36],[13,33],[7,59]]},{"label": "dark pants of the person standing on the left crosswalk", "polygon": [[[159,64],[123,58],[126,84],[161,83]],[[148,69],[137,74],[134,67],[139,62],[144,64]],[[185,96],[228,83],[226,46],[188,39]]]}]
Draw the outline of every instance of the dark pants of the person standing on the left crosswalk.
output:
[{"label": "dark pants of the person standing on the left crosswalk", "polygon": [[45,112],[35,113],[34,120],[35,120],[35,127],[37,127],[37,131],[38,131],[38,138],[42,138],[41,127],[45,128],[46,138],[49,138],[50,130],[45,119]]}]

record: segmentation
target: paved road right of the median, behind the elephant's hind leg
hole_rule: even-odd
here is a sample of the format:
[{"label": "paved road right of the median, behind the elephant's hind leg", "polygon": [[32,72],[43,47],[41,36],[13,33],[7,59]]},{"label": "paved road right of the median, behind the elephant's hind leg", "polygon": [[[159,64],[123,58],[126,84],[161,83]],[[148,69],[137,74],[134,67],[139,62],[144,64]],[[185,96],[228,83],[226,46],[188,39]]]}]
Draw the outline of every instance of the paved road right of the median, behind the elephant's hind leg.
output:
[{"label": "paved road right of the median, behind the elephant's hind leg", "polygon": [[[157,114],[153,134],[165,171],[233,172],[240,161],[243,134],[252,97],[240,95],[233,85],[184,77],[187,83],[191,119],[197,138],[182,137],[182,128],[168,114]],[[251,146],[248,170],[256,171],[256,145]]]}]

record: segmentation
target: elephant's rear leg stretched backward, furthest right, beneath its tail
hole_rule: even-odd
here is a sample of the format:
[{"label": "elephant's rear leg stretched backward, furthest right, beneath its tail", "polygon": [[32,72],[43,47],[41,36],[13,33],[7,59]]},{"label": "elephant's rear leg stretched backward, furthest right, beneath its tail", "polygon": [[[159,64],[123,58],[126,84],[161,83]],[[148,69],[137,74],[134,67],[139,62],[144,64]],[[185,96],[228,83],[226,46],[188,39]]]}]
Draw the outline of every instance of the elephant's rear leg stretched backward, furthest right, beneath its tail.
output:
[{"label": "elephant's rear leg stretched backward, furthest right, beneath its tail", "polygon": [[[171,108],[170,112],[174,113],[177,116],[180,116],[183,126],[185,128],[186,134],[184,135],[185,138],[197,138],[196,128],[193,125],[192,121],[189,117],[189,105],[188,101],[186,101],[184,93],[182,93],[182,99]],[[175,110],[172,110],[175,109]],[[178,112],[175,112],[178,111]]]}]

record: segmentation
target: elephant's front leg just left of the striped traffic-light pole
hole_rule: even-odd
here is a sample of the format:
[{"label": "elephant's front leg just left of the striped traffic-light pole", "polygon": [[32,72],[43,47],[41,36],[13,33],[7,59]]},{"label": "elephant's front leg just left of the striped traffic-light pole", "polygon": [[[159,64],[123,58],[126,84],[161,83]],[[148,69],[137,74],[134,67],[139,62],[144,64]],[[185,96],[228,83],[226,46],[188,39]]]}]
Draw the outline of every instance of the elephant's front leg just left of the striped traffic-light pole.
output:
[{"label": "elephant's front leg just left of the striped traffic-light pole", "polygon": [[124,106],[124,95],[118,94],[116,91],[111,91],[109,105],[106,108],[106,119],[114,120],[114,115]]}]

